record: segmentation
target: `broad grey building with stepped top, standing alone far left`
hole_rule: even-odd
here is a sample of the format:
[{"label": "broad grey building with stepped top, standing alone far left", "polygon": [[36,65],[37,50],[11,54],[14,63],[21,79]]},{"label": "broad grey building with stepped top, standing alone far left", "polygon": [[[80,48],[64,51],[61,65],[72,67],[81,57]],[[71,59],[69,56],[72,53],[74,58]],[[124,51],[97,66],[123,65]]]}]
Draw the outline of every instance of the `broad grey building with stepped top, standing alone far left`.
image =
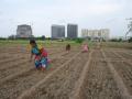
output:
[{"label": "broad grey building with stepped top, standing alone far left", "polygon": [[16,37],[32,37],[31,25],[26,24],[18,25]]}]

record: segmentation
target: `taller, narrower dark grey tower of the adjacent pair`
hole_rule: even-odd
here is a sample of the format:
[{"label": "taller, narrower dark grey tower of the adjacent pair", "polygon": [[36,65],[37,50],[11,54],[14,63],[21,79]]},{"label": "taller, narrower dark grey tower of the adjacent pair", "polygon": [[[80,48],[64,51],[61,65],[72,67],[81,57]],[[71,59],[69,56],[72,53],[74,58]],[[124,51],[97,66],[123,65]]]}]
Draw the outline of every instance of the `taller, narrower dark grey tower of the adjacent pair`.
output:
[{"label": "taller, narrower dark grey tower of the adjacent pair", "polygon": [[68,38],[77,38],[78,37],[78,25],[77,24],[68,24],[67,25],[67,37]]}]

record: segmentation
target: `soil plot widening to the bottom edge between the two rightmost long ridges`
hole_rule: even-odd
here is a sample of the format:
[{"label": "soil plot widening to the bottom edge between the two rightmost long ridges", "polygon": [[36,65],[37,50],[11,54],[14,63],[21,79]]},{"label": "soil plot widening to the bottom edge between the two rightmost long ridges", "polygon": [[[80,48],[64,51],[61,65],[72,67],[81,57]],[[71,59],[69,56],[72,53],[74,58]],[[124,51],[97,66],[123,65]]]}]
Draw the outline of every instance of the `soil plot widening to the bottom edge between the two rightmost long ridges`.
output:
[{"label": "soil plot widening to the bottom edge between the two rightmost long ridges", "polygon": [[81,99],[122,99],[106,62],[91,62],[80,90]]}]

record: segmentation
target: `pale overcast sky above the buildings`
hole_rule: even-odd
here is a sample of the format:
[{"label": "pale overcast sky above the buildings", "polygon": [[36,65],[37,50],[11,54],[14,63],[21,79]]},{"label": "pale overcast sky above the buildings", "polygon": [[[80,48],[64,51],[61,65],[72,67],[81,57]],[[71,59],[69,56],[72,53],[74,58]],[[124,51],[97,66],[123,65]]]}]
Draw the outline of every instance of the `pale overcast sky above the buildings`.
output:
[{"label": "pale overcast sky above the buildings", "polygon": [[76,23],[81,29],[110,29],[123,36],[132,0],[0,0],[0,36],[15,34],[16,25],[30,24],[35,36],[51,36],[52,24]]}]

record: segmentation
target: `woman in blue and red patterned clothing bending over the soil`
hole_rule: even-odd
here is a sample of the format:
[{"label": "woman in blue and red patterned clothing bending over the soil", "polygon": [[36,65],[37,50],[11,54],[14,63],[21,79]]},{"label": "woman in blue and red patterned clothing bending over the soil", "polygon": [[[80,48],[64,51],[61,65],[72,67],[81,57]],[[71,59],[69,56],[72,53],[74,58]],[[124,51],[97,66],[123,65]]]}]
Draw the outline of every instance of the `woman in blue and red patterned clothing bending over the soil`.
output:
[{"label": "woman in blue and red patterned clothing bending over the soil", "polygon": [[34,64],[35,64],[36,69],[44,70],[48,65],[47,52],[43,47],[38,48],[34,40],[30,41],[30,45],[32,47],[31,48],[31,61],[34,56]]}]

